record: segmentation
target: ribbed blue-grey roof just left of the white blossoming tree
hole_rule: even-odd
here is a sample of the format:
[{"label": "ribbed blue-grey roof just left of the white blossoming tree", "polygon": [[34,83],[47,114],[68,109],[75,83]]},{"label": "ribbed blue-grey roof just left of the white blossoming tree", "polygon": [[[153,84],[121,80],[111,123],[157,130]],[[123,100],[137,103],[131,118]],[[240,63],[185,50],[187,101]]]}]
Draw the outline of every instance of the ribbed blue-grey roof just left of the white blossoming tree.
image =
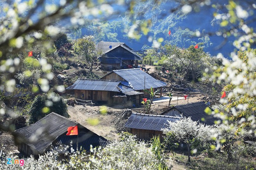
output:
[{"label": "ribbed blue-grey roof just left of the white blossoming tree", "polygon": [[176,122],[180,117],[132,113],[125,124],[126,128],[161,131],[168,128],[168,121]]}]

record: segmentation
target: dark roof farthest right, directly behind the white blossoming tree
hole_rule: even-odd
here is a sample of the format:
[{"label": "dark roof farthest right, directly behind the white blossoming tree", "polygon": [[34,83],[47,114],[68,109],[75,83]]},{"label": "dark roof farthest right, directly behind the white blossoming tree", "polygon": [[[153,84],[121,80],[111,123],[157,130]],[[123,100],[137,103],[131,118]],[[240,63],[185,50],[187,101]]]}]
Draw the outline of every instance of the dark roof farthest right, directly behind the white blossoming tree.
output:
[{"label": "dark roof farthest right, directly behind the white blossoming tree", "polygon": [[[204,110],[206,107],[209,107],[204,102],[193,102],[189,104],[182,104],[182,105],[176,105],[172,108],[162,112],[161,114],[166,114],[172,109],[177,109],[182,113],[182,116],[185,117],[191,117],[192,121],[199,121],[204,124],[213,125],[214,121],[218,121],[216,117],[213,117],[213,115],[208,115]],[[211,109],[211,108],[210,108]],[[211,109],[213,111],[213,109]],[[205,121],[202,121],[202,118],[205,119]]]}]

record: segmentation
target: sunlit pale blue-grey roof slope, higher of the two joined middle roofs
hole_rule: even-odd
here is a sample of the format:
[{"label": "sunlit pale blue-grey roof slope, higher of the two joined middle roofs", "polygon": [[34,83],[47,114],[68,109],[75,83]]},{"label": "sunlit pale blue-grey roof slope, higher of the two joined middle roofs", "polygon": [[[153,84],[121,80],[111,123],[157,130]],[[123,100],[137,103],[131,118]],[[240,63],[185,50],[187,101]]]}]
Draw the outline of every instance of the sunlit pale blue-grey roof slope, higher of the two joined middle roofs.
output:
[{"label": "sunlit pale blue-grey roof slope, higher of the two joined middle roofs", "polygon": [[116,73],[121,76],[126,82],[130,83],[134,90],[144,89],[144,78],[145,78],[145,89],[157,88],[166,86],[166,83],[156,80],[146,72],[140,70],[140,68],[131,68],[123,70],[113,70],[108,74]]}]

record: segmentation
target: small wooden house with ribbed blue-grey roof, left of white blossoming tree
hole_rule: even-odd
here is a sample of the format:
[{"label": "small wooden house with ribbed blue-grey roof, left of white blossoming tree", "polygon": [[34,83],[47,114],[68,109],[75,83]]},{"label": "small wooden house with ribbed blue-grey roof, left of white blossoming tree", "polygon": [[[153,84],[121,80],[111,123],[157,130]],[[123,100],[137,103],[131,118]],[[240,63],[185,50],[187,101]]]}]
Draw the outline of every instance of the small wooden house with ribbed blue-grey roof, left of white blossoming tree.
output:
[{"label": "small wooden house with ribbed blue-grey roof, left of white blossoming tree", "polygon": [[139,140],[150,141],[153,136],[159,136],[162,142],[164,139],[162,129],[168,128],[168,121],[178,120],[180,117],[132,113],[125,128],[130,128],[130,133],[136,135]]}]

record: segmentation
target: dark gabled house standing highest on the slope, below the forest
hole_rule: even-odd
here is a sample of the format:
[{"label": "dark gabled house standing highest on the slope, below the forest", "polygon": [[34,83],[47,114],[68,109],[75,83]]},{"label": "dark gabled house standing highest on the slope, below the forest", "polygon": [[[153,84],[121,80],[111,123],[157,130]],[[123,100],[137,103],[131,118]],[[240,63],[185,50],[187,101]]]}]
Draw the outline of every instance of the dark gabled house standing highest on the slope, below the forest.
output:
[{"label": "dark gabled house standing highest on the slope, below the forest", "polygon": [[109,69],[137,68],[142,58],[123,42],[101,41],[96,46],[101,53],[100,65]]}]

